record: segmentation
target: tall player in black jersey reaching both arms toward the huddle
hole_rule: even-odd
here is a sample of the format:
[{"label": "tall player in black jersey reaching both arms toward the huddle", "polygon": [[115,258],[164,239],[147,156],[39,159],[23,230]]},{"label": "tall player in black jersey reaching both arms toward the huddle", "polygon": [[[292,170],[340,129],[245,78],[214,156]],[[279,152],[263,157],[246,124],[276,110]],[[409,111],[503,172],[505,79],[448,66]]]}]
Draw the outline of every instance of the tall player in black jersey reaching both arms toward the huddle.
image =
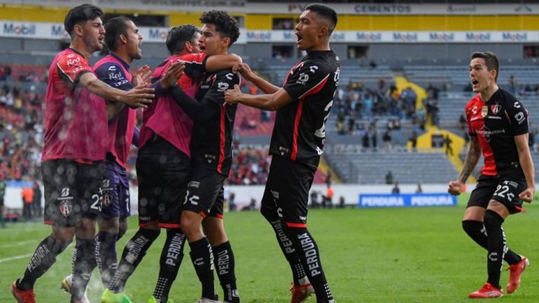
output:
[{"label": "tall player in black jersey reaching both arms toward the huddle", "polygon": [[325,123],[339,80],[339,59],[329,47],[336,24],[332,8],[322,4],[307,6],[295,26],[298,49],[307,55],[293,66],[283,87],[267,83],[243,64],[237,70],[266,94],[242,94],[237,86],[225,94],[229,104],[239,102],[266,111],[277,110],[270,143],[272,164],[260,212],[272,225],[291,265],[293,303],[304,302],[313,288],[319,303],[335,302],[318,246],[307,230],[307,201],[324,153]]}]

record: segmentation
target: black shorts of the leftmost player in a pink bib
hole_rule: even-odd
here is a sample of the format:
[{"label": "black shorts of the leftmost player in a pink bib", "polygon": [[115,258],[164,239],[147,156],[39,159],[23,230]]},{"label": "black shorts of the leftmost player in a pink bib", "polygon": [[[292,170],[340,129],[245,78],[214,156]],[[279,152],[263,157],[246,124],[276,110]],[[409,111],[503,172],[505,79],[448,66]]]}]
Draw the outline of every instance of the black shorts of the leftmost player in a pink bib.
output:
[{"label": "black shorts of the leftmost player in a pink bib", "polygon": [[41,163],[45,188],[45,223],[59,227],[78,225],[81,218],[95,220],[101,211],[103,162],[81,164],[73,160]]}]

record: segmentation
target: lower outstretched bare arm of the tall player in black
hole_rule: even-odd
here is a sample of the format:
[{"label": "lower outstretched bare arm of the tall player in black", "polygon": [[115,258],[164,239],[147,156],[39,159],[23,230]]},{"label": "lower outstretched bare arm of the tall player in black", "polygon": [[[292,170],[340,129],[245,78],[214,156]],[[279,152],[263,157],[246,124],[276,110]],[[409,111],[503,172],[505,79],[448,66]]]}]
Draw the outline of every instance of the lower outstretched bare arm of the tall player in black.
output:
[{"label": "lower outstretched bare arm of the tall player in black", "polygon": [[291,103],[292,97],[283,88],[273,94],[244,94],[239,90],[238,85],[234,85],[234,89],[225,92],[225,101],[228,104],[241,103],[265,111],[277,111]]}]

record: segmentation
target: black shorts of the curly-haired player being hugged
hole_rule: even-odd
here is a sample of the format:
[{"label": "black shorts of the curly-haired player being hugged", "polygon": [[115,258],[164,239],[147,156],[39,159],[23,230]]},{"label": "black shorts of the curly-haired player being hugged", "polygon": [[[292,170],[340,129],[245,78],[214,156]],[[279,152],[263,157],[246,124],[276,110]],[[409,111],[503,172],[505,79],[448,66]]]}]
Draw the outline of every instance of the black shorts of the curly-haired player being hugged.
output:
[{"label": "black shorts of the curly-haired player being hugged", "polygon": [[[219,174],[215,169],[197,167],[193,169],[191,181],[187,185],[187,194],[183,204],[183,209],[200,213],[200,216],[222,217],[222,203],[225,201],[222,185],[227,177]],[[218,199],[222,197],[222,199]],[[220,200],[220,202],[218,202]],[[220,206],[213,209],[218,202]]]}]

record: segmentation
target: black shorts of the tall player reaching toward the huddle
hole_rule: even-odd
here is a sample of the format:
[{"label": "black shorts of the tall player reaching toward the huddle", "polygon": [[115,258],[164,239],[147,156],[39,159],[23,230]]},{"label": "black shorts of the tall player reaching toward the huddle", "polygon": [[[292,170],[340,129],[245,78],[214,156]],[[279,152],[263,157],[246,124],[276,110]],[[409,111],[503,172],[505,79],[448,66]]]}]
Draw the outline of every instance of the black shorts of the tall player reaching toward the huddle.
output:
[{"label": "black shorts of the tall player reaching toward the huddle", "polygon": [[277,211],[288,227],[306,227],[309,190],[316,171],[307,164],[273,156],[262,207]]}]

